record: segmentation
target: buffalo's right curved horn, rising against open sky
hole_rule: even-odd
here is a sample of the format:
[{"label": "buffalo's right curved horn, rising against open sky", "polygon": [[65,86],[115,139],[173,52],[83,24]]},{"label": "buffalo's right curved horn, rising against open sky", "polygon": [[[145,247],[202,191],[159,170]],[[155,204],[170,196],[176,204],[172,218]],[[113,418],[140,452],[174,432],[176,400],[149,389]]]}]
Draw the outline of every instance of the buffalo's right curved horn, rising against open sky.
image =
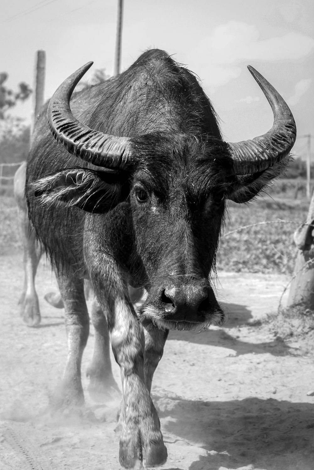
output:
[{"label": "buffalo's right curved horn, rising against open sky", "polygon": [[230,143],[234,172],[238,175],[257,173],[280,162],[292,149],[297,138],[297,127],[291,110],[280,94],[258,71],[247,66],[274,113],[272,128],[252,140]]}]

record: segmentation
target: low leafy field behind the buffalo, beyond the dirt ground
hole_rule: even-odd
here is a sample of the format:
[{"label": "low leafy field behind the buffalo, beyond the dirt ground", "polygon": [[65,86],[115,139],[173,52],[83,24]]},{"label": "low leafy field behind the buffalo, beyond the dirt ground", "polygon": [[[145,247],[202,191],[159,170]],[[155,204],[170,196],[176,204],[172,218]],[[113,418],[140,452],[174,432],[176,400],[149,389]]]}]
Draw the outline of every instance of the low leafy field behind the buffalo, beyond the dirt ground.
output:
[{"label": "low leafy field behind the buffalo, beyond the dirt ground", "polygon": [[[297,248],[292,236],[306,219],[309,203],[302,200],[278,201],[275,203],[267,198],[248,205],[230,205],[218,257],[220,269],[250,273],[293,272]],[[268,221],[273,222],[260,224]],[[230,233],[251,224],[260,225]],[[22,256],[15,200],[0,196],[0,255],[16,252],[21,252]]]}]

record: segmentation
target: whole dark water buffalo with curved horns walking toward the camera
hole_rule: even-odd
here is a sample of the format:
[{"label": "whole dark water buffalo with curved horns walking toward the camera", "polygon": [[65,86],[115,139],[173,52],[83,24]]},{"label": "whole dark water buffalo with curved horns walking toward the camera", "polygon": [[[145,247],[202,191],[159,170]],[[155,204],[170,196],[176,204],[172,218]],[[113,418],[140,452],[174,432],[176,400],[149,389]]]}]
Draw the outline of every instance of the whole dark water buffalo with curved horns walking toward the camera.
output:
[{"label": "whole dark water buffalo with curved horns walking toward the camera", "polygon": [[[282,172],[296,126],[252,67],[274,124],[253,140],[227,143],[195,76],[164,51],[146,51],[119,76],[71,98],[91,64],[51,98],[50,131],[46,110],[39,116],[27,164],[29,217],[65,306],[69,354],[54,405],[84,402],[86,278],[99,305],[91,388],[113,380],[110,340],[123,388],[120,463],[155,466],[167,450],[150,389],[168,330],[223,321],[211,274],[226,200],[245,203]],[[128,285],[147,291],[138,312]]]}]

